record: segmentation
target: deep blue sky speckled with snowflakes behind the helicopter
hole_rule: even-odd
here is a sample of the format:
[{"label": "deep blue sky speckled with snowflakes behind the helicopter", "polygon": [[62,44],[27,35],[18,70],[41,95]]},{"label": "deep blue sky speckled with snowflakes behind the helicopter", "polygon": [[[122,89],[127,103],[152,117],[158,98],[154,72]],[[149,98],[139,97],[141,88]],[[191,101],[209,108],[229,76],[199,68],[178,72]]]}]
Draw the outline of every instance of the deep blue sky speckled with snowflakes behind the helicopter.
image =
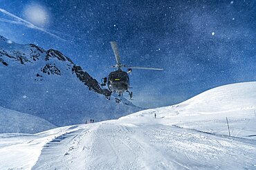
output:
[{"label": "deep blue sky speckled with snowflakes behind the helicopter", "polygon": [[[28,16],[31,6],[46,12],[45,23]],[[164,68],[133,70],[139,106],[168,106],[256,79],[255,1],[0,0],[0,8],[0,35],[60,50],[98,81],[113,70],[113,40],[123,64]]]}]

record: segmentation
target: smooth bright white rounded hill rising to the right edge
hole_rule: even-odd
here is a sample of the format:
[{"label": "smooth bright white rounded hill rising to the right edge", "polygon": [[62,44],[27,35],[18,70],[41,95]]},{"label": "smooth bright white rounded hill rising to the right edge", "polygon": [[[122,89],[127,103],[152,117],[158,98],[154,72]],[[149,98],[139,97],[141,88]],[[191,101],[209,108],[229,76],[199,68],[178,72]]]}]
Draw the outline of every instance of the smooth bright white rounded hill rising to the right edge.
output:
[{"label": "smooth bright white rounded hill rising to the right edge", "polygon": [[148,109],[127,117],[140,114],[147,115],[147,113],[152,112],[158,113],[158,115],[164,117],[174,115],[205,115],[212,113],[223,115],[223,113],[226,112],[230,113],[255,109],[256,82],[241,82],[212,88],[180,104]]}]

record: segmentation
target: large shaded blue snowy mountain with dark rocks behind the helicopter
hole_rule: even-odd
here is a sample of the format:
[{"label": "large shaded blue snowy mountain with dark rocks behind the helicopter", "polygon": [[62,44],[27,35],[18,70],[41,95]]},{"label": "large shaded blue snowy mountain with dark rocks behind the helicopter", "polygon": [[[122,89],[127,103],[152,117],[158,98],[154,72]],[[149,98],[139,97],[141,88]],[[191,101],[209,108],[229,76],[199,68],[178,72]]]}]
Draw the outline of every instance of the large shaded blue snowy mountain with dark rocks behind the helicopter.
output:
[{"label": "large shaded blue snowy mountain with dark rocks behind the helicopter", "polygon": [[142,109],[125,98],[108,101],[108,93],[59,51],[0,37],[0,106],[56,126],[115,119]]}]

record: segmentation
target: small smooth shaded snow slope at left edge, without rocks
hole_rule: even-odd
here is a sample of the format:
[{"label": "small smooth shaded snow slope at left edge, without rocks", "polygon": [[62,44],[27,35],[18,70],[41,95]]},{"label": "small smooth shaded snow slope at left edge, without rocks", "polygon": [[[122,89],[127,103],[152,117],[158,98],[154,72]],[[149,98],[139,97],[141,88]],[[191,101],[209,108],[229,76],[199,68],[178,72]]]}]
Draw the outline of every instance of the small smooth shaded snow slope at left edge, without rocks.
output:
[{"label": "small smooth shaded snow slope at left edge, without rocks", "polygon": [[0,106],[0,133],[39,133],[56,128],[42,118]]}]

